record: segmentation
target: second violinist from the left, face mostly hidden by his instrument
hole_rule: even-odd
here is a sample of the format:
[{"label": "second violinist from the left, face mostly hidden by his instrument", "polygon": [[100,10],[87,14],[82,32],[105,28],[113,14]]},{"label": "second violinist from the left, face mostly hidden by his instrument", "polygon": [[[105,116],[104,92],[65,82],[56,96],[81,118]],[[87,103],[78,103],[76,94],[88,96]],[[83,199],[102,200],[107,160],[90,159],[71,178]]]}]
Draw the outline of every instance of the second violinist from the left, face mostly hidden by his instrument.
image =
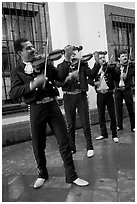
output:
[{"label": "second violinist from the left, face mostly hidden by his instrument", "polygon": [[[71,61],[74,62],[76,52],[73,52]],[[79,66],[79,67],[78,67]],[[62,63],[58,65],[61,69]],[[76,70],[74,70],[76,69]],[[89,107],[87,100],[88,82],[87,77],[92,78],[92,71],[87,62],[80,62],[72,65],[70,73],[64,83],[58,83],[62,87],[64,109],[68,125],[68,138],[71,146],[72,154],[76,153],[75,144],[75,122],[76,110],[83,127],[83,132],[86,140],[87,157],[94,155],[94,148],[92,143],[91,124],[89,116]]]}]

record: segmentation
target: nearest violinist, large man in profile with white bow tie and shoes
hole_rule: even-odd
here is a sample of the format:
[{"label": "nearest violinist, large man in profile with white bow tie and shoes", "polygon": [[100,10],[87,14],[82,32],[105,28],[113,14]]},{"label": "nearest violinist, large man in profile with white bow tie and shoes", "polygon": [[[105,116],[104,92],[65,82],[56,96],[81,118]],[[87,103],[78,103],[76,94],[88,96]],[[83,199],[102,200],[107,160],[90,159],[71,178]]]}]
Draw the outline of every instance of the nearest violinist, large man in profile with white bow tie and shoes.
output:
[{"label": "nearest violinist, large man in profile with white bow tie and shoes", "polygon": [[[30,105],[30,123],[32,133],[33,152],[38,167],[38,179],[34,188],[41,187],[48,179],[46,167],[46,124],[49,123],[59,145],[59,151],[64,162],[67,183],[86,186],[88,182],[78,178],[73,163],[70,145],[67,137],[67,128],[64,117],[56,101],[58,90],[54,80],[64,81],[69,73],[72,46],[65,48],[65,60],[61,70],[57,70],[48,60],[46,77],[45,64],[34,69],[32,61],[35,58],[35,49],[28,39],[18,39],[14,43],[16,53],[20,56],[19,63],[12,70],[11,98],[24,97],[24,102]],[[35,67],[36,68],[36,67]]]}]

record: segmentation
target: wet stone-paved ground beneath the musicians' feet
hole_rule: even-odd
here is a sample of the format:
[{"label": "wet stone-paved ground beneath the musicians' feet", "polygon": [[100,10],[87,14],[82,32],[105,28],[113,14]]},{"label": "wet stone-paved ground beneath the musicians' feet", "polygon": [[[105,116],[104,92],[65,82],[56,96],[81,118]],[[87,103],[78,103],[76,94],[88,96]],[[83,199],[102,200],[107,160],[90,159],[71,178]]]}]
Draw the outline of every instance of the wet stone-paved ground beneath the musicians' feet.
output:
[{"label": "wet stone-paved ground beneath the musicians' feet", "polygon": [[[109,122],[107,123],[109,129]],[[63,162],[56,139],[47,137],[49,180],[39,189],[33,184],[37,168],[31,141],[2,148],[3,202],[135,202],[135,134],[130,132],[129,118],[118,132],[119,143],[109,138],[97,141],[99,125],[92,126],[95,155],[87,158],[83,130],[76,130],[77,153],[73,155],[80,178],[86,187],[65,183]]]}]

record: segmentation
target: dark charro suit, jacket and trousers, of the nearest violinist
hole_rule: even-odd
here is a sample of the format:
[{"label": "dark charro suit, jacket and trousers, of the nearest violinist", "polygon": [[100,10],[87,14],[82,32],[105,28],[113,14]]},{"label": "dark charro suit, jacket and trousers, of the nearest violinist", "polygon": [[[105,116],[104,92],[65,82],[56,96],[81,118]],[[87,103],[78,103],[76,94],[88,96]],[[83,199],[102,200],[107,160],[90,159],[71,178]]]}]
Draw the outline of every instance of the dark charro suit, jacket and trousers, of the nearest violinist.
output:
[{"label": "dark charro suit, jacket and trousers, of the nearest violinist", "polygon": [[70,64],[64,61],[62,63],[62,69],[57,70],[48,61],[48,81],[45,87],[43,88],[43,86],[41,86],[32,91],[30,90],[30,82],[44,70],[44,65],[42,65],[40,70],[28,74],[24,71],[24,63],[20,61],[18,66],[12,71],[11,97],[23,97],[24,102],[30,105],[32,145],[39,170],[39,177],[48,178],[44,150],[46,148],[46,124],[49,123],[58,141],[59,151],[64,161],[66,182],[71,183],[77,178],[77,174],[67,138],[66,124],[56,101],[58,90],[54,83],[54,80],[65,80],[69,72],[69,67]]}]

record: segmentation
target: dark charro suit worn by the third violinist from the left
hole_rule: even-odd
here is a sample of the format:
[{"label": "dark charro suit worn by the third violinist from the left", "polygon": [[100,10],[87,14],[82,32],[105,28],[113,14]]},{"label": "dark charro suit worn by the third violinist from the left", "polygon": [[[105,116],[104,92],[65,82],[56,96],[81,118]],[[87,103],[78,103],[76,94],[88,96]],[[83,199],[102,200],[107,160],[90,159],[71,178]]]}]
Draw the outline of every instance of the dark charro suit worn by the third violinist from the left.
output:
[{"label": "dark charro suit worn by the third violinist from the left", "polygon": [[105,119],[105,107],[107,106],[111,123],[110,129],[112,131],[112,138],[117,137],[116,130],[116,116],[115,116],[115,106],[114,106],[114,80],[118,80],[118,74],[114,70],[115,66],[110,66],[107,63],[102,67],[102,71],[104,72],[104,82],[106,86],[106,90],[100,90],[97,86],[94,85],[94,82],[100,81],[101,73],[99,73],[101,66],[97,63],[94,64],[92,69],[94,73],[94,80],[89,79],[89,84],[95,87],[97,92],[97,107],[98,107],[98,116],[99,116],[99,124],[101,129],[101,135],[104,138],[108,138],[108,132],[106,127],[106,119]]}]

